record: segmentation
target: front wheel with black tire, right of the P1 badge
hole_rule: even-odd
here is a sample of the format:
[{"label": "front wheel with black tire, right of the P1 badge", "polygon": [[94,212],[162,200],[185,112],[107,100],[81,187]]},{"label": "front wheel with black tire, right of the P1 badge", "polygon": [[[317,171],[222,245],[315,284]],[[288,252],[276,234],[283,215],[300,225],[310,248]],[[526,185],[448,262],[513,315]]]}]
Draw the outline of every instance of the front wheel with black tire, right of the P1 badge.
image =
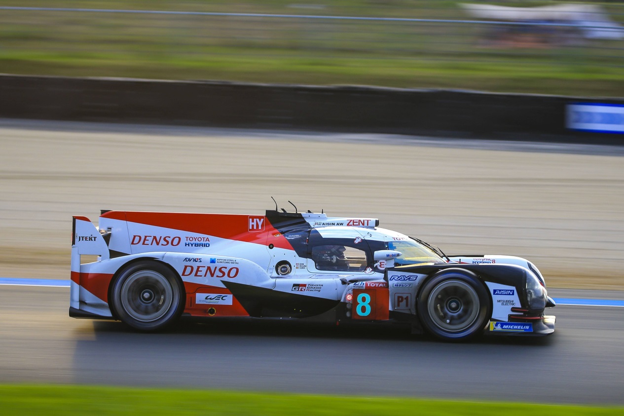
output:
[{"label": "front wheel with black tire, right of the P1 badge", "polygon": [[485,285],[467,270],[443,270],[422,287],[417,301],[423,327],[435,337],[464,341],[482,334],[491,312]]}]

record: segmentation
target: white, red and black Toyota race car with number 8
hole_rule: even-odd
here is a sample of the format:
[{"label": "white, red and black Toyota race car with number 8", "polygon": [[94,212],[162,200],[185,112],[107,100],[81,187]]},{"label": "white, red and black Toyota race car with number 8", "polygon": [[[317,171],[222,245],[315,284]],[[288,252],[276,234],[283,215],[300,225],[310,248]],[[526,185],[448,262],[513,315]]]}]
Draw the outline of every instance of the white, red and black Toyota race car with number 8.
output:
[{"label": "white, red and black Toyota race car with number 8", "polygon": [[[554,331],[544,310],[555,302],[528,260],[449,257],[378,219],[276,207],[265,215],[102,210],[98,227],[73,221],[71,317],[142,331],[181,317],[311,318],[403,324],[444,340]],[[82,255],[97,261],[81,264]]]}]

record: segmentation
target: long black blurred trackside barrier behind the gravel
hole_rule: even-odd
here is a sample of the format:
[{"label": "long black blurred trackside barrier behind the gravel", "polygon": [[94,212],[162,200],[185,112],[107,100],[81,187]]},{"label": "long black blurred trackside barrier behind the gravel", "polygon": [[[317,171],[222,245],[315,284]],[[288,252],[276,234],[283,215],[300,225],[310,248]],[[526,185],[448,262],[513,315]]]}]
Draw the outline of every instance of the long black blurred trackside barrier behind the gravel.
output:
[{"label": "long black blurred trackside barrier behind the gravel", "polygon": [[0,76],[0,97],[26,119],[624,144],[566,128],[568,105],[624,98],[37,76]]}]

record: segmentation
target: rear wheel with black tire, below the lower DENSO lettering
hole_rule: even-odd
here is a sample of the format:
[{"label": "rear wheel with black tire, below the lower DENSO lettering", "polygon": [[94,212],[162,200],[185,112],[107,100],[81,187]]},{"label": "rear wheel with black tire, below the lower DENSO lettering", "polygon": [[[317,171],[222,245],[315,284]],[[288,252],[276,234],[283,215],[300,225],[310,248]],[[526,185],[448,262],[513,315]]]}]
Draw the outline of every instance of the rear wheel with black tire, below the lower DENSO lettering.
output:
[{"label": "rear wheel with black tire, below the lower DENSO lettering", "polygon": [[175,322],[185,305],[180,278],[166,265],[144,260],[130,264],[114,280],[111,307],[124,324],[141,331],[163,329]]}]

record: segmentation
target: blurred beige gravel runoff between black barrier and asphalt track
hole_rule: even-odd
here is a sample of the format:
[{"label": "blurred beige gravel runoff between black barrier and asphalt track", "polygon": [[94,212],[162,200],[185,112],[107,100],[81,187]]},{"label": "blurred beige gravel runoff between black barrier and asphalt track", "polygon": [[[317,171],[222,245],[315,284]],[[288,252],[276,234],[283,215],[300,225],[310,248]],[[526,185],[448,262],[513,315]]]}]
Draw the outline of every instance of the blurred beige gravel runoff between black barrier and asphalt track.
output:
[{"label": "blurred beige gravel runoff between black barrier and asphalt track", "polygon": [[622,289],[621,147],[0,120],[0,277],[69,279],[100,209],[377,217],[447,254],[526,257]]}]

